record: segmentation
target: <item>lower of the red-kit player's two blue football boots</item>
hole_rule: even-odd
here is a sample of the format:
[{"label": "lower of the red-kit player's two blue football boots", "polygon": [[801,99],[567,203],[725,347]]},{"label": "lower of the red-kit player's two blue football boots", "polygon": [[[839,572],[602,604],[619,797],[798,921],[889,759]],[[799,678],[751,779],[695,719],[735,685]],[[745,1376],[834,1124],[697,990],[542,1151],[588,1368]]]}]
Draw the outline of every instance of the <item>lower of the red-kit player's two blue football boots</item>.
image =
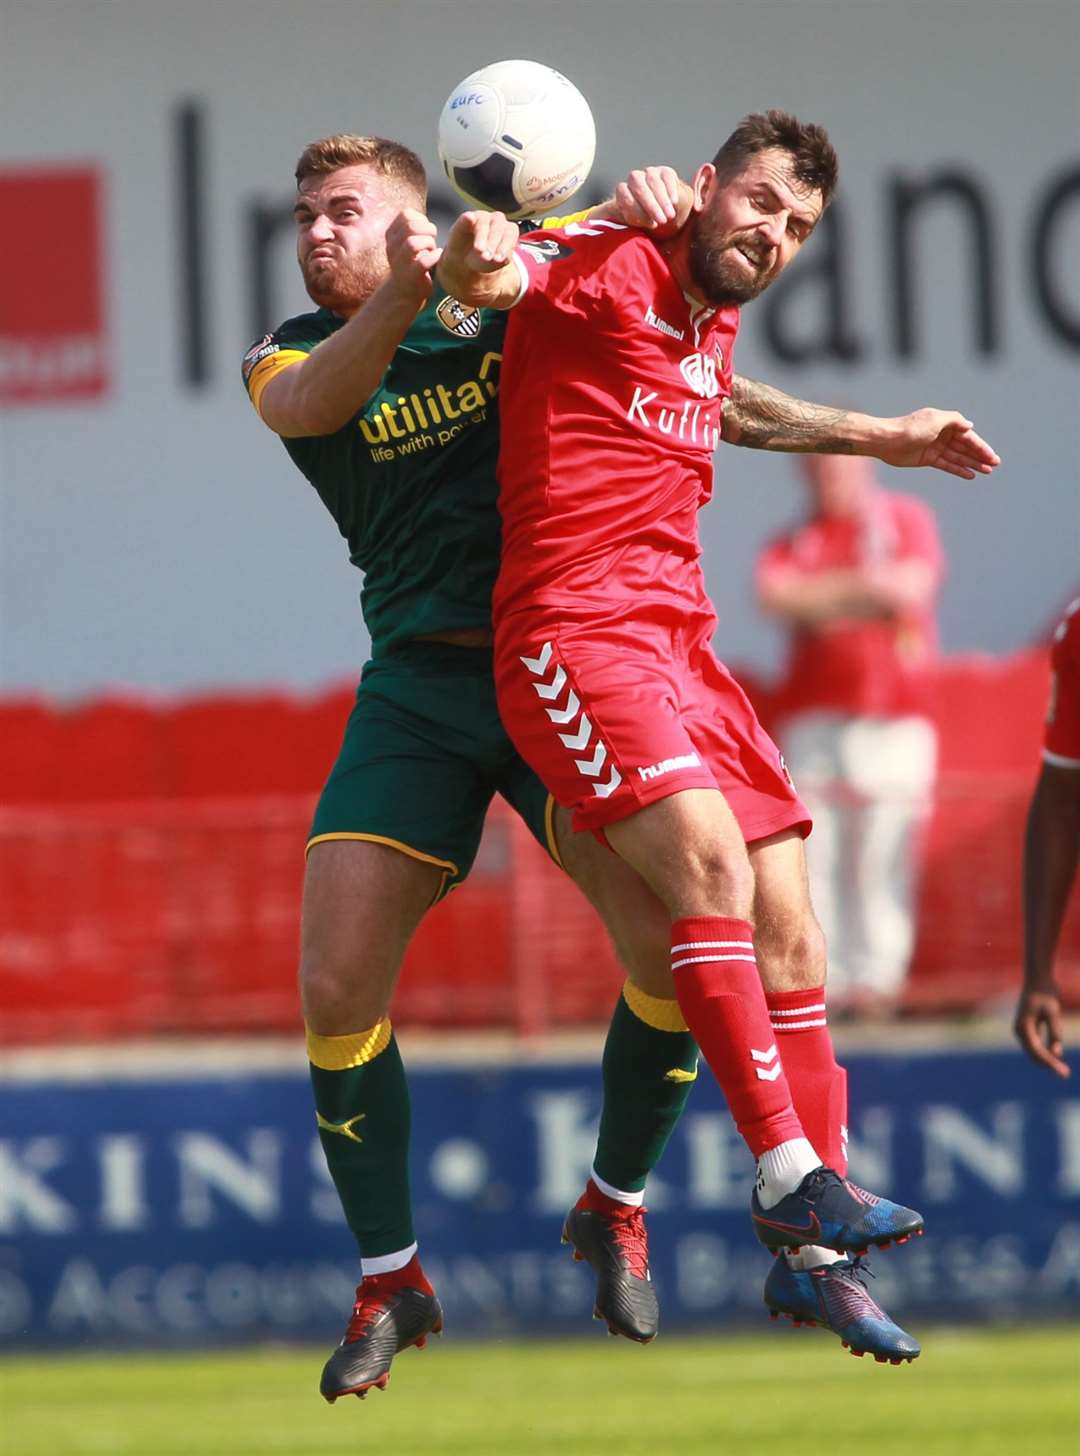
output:
[{"label": "lower of the red-kit player's two blue football boots", "polygon": [[796,1326],[821,1325],[838,1335],[853,1356],[873,1356],[878,1364],[916,1360],[918,1341],[870,1299],[865,1283],[867,1274],[860,1258],[821,1264],[815,1270],[793,1270],[786,1258],[779,1258],[766,1280],[769,1318],[783,1315]]}]

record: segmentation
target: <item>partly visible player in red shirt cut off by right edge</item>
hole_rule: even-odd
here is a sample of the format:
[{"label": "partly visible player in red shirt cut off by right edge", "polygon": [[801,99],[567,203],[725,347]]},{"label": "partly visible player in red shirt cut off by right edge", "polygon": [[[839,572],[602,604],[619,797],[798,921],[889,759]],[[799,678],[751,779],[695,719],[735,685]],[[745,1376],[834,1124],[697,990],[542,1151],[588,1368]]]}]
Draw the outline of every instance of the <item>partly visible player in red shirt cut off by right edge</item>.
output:
[{"label": "partly visible player in red shirt cut off by right edge", "polygon": [[1023,989],[1013,1029],[1039,1066],[1070,1076],[1054,977],[1061,925],[1080,863],[1080,597],[1054,633],[1042,770],[1023,842]]}]

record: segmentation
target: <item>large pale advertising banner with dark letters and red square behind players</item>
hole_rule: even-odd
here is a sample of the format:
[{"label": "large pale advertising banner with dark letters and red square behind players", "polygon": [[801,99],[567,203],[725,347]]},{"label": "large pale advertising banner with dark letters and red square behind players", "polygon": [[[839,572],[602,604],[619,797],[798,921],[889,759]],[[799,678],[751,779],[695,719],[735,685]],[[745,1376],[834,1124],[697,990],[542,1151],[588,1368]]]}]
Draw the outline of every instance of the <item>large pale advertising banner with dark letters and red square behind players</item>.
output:
[{"label": "large pale advertising banner with dark letters and red square behind players", "polygon": [[[825,124],[841,186],[748,310],[736,368],[815,399],[958,408],[990,480],[907,475],[949,555],[946,649],[1028,642],[1080,581],[1074,0],[6,0],[0,15],[0,692],[355,676],[360,579],[240,386],[304,307],[301,147],[415,147],[469,71],[530,57],[597,119],[597,189],[684,173],[748,111]],[[898,479],[898,478],[894,478]],[[718,648],[767,664],[754,556],[790,457],[722,447],[702,518]]]}]

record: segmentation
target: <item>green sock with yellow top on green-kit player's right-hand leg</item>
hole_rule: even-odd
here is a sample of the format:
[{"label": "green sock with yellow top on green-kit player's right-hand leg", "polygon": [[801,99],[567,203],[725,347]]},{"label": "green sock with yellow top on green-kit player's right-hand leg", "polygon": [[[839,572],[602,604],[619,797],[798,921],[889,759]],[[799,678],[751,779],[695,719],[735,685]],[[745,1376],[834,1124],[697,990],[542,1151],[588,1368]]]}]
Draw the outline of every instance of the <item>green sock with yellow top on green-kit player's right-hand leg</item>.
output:
[{"label": "green sock with yellow top on green-kit player's right-hand leg", "polygon": [[630,981],[604,1042],[604,1107],[595,1171],[614,1188],[639,1192],[659,1162],[697,1076],[697,1047],[678,1002]]}]

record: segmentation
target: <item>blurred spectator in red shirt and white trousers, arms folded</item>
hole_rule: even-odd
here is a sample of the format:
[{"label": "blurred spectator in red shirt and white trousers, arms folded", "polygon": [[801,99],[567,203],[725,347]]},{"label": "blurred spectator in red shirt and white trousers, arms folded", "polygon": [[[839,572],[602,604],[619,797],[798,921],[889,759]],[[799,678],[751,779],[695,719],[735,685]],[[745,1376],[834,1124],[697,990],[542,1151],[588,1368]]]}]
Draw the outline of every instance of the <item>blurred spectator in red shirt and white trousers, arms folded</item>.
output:
[{"label": "blurred spectator in red shirt and white trousers, arms folded", "polygon": [[914,945],[945,561],[932,510],[885,489],[870,460],[806,456],[801,469],[806,518],[757,568],[761,606],[790,629],[777,740],[814,815],[806,862],[830,1003],[882,1015],[901,996]]}]

